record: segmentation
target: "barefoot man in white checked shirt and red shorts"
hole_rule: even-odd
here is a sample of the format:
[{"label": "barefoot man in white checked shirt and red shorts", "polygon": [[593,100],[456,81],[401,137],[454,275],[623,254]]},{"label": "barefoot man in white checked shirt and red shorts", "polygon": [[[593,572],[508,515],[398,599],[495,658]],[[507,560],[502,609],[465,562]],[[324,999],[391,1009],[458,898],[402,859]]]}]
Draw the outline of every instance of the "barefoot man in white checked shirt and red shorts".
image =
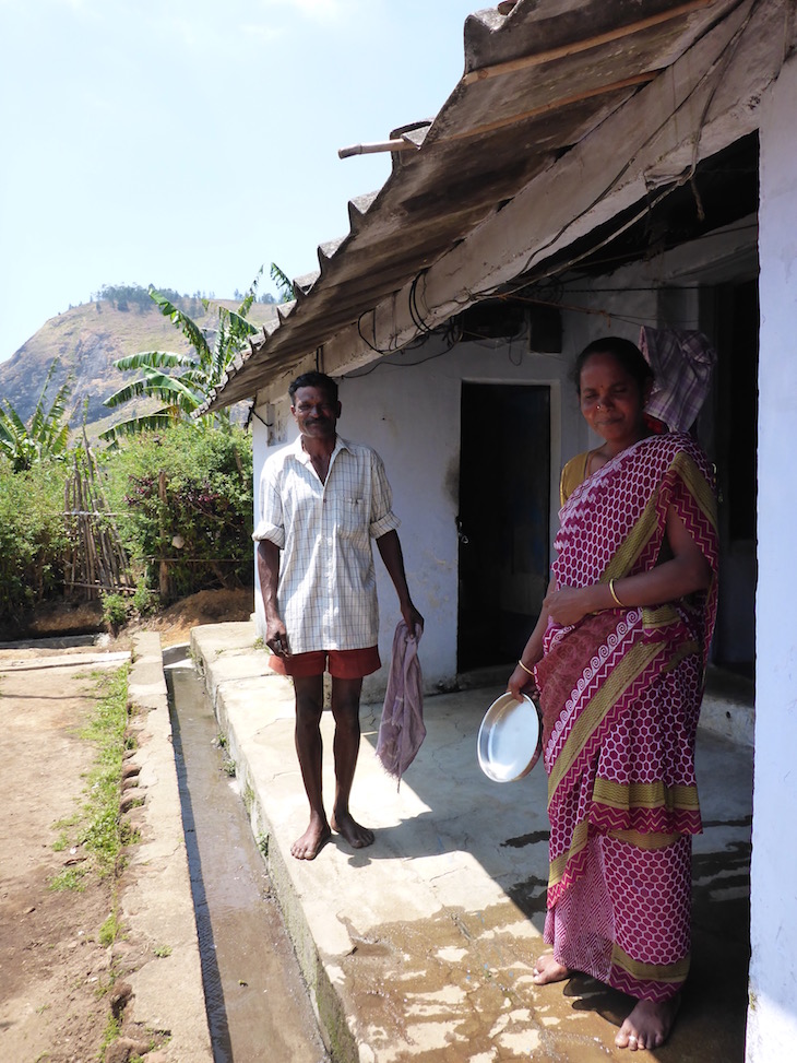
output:
[{"label": "barefoot man in white checked shirt and red shorts", "polygon": [[[313,860],[332,830],[355,849],[373,841],[373,832],[348,808],[360,743],[362,677],[381,664],[371,539],[408,629],[415,631],[424,618],[407,589],[395,531],[398,519],[391,509],[382,460],[369,447],[337,435],[337,385],[323,373],[305,373],[288,394],[299,438],[263,466],[253,539],[259,544],[265,643],[274,654],[274,671],[294,680],[296,752],[310,803],[310,823],[290,851],[298,860]],[[321,786],[324,671],[332,676],[335,721],[336,784],[329,820]]]}]

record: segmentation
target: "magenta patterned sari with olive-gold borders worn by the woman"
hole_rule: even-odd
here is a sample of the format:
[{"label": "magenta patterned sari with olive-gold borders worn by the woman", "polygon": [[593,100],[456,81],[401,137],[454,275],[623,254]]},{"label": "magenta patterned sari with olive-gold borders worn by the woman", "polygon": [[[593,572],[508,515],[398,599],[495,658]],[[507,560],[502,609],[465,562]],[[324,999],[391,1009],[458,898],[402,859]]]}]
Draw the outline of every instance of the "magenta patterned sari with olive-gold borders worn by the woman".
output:
[{"label": "magenta patterned sari with olive-gold borders worn by the woman", "polygon": [[536,669],[550,817],[546,941],[566,967],[666,1000],[689,968],[694,739],[716,611],[712,476],[689,436],[652,436],[560,512],[557,586],[649,571],[673,507],[714,578],[706,593],[549,624]]}]

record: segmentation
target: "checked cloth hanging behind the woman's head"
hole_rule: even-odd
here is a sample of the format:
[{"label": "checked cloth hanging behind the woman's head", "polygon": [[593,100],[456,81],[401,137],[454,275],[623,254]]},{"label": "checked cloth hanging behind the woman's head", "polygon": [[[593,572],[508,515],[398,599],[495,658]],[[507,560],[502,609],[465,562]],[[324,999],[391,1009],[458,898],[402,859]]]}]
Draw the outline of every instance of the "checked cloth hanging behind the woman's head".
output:
[{"label": "checked cloth hanging behind the woman's head", "polygon": [[689,432],[709,394],[716,351],[702,332],[647,327],[639,346],[655,376],[645,413],[670,432]]}]

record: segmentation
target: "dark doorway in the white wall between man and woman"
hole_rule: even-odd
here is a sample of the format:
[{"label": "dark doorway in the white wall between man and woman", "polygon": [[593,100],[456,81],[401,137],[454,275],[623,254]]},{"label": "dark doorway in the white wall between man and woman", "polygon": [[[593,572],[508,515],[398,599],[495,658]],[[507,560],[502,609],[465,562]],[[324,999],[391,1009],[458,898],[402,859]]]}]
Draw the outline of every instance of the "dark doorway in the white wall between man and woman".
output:
[{"label": "dark doorway in the white wall between man and woman", "polygon": [[548,583],[550,391],[463,383],[457,671],[516,659]]}]

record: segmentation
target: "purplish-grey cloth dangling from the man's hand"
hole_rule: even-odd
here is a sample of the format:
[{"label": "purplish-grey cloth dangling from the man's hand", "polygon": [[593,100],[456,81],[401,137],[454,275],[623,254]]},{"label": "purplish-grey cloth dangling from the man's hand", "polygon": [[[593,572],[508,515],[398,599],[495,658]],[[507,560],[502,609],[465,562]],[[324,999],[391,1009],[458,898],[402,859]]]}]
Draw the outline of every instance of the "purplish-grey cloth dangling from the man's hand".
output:
[{"label": "purplish-grey cloth dangling from the man's hand", "polygon": [[388,690],[379,724],[377,756],[384,770],[398,780],[398,786],[426,737],[424,680],[418,660],[423,630],[420,625],[416,625],[415,633],[411,635],[404,621],[398,622],[393,636]]}]

